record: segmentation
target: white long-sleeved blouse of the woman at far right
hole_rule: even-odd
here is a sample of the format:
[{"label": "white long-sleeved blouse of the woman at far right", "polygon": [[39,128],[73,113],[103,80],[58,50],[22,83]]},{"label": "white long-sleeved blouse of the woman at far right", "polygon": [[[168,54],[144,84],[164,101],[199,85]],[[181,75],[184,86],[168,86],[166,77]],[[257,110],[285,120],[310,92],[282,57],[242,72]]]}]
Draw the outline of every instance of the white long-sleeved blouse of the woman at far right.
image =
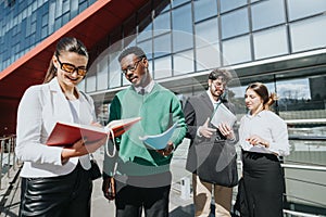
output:
[{"label": "white long-sleeved blouse of the woman at far right", "polygon": [[[269,148],[250,144],[246,139],[251,136],[259,136],[266,140]],[[279,156],[290,153],[287,124],[271,111],[262,111],[255,116],[247,114],[241,118],[239,143],[244,151],[249,152],[276,153]]]}]

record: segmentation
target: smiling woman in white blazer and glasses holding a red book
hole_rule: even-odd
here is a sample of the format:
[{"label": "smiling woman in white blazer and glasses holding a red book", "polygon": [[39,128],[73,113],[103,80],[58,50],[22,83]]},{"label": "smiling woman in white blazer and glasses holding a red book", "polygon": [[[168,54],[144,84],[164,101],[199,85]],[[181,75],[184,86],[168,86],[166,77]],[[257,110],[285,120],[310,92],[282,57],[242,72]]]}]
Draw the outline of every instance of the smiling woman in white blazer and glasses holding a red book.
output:
[{"label": "smiling woman in white blazer and glasses holding a red book", "polygon": [[16,155],[24,162],[20,216],[90,216],[89,153],[104,143],[83,139],[71,146],[46,141],[57,122],[96,125],[93,102],[77,85],[88,53],[75,38],[62,38],[42,85],[26,90],[17,112]]}]

